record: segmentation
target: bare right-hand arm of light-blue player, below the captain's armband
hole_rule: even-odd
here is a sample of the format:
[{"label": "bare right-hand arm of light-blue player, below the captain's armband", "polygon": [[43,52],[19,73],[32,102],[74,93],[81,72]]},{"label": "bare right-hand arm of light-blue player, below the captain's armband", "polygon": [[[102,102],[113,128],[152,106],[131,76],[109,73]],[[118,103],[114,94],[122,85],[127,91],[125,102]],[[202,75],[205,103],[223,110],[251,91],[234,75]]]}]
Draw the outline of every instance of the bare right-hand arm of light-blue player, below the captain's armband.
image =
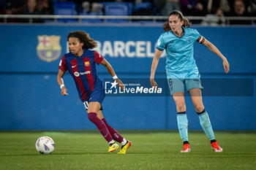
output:
[{"label": "bare right-hand arm of light-blue player, below the captain's armband", "polygon": [[220,51],[218,50],[217,47],[215,47],[213,44],[211,44],[211,42],[209,42],[207,39],[205,39],[203,37],[204,41],[202,42],[202,44],[206,47],[208,47],[209,50],[211,50],[213,53],[215,53],[216,55],[219,56],[219,58],[222,58],[223,61],[223,67],[225,70],[225,73],[228,73],[230,71],[230,64],[227,61],[227,58],[225,58],[224,55],[222,55],[222,53],[220,53]]}]

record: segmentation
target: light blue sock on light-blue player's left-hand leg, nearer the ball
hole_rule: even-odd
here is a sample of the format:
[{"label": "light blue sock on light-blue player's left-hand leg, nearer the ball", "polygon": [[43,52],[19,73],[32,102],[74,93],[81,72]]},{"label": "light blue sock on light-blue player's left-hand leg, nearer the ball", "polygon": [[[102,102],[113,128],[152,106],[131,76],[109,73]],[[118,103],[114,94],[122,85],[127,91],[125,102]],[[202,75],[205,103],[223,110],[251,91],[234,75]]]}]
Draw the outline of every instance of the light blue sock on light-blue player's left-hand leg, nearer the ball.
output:
[{"label": "light blue sock on light-blue player's left-hand leg, nearer the ball", "polygon": [[187,135],[187,114],[186,112],[177,112],[178,132],[183,142],[189,141]]}]

